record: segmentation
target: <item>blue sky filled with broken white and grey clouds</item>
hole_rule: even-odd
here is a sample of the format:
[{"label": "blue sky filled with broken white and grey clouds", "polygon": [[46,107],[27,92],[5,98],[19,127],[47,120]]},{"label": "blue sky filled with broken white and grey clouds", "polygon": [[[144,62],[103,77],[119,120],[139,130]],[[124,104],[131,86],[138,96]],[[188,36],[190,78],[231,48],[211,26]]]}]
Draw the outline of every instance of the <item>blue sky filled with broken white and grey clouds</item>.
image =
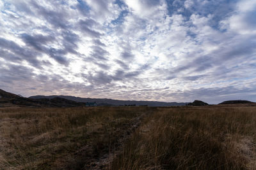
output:
[{"label": "blue sky filled with broken white and grey clouds", "polygon": [[256,1],[0,0],[0,89],[256,101]]}]

